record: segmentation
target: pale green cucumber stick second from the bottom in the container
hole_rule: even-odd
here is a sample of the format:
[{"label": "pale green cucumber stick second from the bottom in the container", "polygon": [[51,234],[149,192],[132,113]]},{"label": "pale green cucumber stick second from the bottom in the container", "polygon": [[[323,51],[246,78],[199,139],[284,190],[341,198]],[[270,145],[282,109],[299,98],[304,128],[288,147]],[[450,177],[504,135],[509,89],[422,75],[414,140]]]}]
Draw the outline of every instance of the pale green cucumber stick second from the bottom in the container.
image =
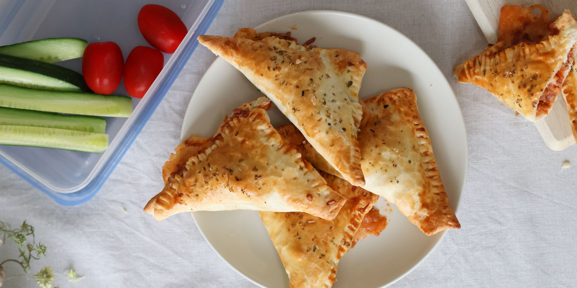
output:
[{"label": "pale green cucumber stick second from the bottom in the container", "polygon": [[0,107],[0,125],[35,126],[92,133],[104,133],[106,131],[106,120],[102,118],[60,115],[4,107]]}]

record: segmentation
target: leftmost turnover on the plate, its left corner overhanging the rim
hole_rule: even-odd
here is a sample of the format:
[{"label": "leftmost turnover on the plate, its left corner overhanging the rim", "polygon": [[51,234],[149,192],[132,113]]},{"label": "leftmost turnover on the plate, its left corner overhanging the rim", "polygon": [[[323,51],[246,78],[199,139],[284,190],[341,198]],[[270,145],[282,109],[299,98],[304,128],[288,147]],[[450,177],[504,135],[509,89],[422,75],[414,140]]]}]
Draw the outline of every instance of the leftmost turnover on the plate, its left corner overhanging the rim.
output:
[{"label": "leftmost turnover on the plate, its left corner overhanging the rim", "polygon": [[[271,103],[264,99],[234,109],[206,140],[208,147],[191,151],[186,165],[170,173],[144,210],[159,221],[183,212],[236,209],[335,218],[346,199],[282,140],[265,111]],[[178,155],[184,154],[171,157],[177,164]]]}]

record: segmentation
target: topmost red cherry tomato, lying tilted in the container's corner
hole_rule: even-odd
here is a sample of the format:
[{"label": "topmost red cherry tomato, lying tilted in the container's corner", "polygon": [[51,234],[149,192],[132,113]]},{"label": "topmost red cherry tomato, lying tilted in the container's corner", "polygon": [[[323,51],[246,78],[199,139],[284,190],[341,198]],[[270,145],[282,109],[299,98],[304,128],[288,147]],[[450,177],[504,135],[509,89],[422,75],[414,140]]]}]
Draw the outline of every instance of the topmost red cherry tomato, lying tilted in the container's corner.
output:
[{"label": "topmost red cherry tomato, lying tilted in the container's corner", "polygon": [[167,7],[148,4],[138,12],[138,29],[152,47],[174,53],[186,36],[186,26],[178,15]]}]

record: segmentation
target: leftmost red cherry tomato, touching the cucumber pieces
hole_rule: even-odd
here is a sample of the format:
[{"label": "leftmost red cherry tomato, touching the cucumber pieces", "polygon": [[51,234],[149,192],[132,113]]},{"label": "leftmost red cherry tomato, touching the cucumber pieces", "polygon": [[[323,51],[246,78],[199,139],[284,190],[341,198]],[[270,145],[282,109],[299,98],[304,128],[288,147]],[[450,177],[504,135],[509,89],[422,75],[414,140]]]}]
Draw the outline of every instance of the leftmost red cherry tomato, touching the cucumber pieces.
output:
[{"label": "leftmost red cherry tomato, touching the cucumber pieces", "polygon": [[90,43],[84,50],[82,74],[92,91],[111,94],[118,88],[124,70],[124,57],[114,42]]}]

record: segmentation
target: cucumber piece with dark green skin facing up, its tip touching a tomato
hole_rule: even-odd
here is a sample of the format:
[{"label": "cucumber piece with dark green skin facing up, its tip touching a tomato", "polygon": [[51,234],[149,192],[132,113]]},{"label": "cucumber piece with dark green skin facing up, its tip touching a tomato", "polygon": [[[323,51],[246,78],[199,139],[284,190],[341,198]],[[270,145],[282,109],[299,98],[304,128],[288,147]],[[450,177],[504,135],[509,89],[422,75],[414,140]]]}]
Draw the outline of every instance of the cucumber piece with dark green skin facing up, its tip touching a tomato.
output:
[{"label": "cucumber piece with dark green skin facing up, its tip touching a tomato", "polygon": [[28,88],[91,92],[82,74],[68,68],[0,54],[0,83]]}]

